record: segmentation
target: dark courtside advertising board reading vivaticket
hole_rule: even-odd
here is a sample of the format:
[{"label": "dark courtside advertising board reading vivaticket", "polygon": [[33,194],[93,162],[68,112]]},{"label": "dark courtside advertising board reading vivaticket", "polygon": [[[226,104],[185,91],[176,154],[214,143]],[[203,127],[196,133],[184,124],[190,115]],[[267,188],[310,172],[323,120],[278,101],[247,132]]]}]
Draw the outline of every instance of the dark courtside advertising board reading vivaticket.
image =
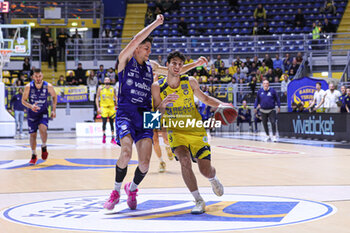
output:
[{"label": "dark courtside advertising board reading vivaticket", "polygon": [[280,113],[278,131],[281,137],[349,141],[350,114]]}]

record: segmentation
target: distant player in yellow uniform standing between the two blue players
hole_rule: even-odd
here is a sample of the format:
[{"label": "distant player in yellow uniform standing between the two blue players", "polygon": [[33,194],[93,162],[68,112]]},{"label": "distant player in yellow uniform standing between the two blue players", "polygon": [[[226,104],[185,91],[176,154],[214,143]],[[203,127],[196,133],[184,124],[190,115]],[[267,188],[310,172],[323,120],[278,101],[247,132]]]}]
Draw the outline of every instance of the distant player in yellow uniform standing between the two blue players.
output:
[{"label": "distant player in yellow uniform standing between the two blue players", "polygon": [[106,143],[106,124],[107,118],[109,118],[112,133],[111,143],[117,144],[114,139],[115,106],[117,105],[117,101],[116,91],[114,90],[114,87],[111,86],[111,80],[109,77],[105,77],[104,85],[98,87],[96,95],[97,113],[101,114],[102,117],[102,143]]}]

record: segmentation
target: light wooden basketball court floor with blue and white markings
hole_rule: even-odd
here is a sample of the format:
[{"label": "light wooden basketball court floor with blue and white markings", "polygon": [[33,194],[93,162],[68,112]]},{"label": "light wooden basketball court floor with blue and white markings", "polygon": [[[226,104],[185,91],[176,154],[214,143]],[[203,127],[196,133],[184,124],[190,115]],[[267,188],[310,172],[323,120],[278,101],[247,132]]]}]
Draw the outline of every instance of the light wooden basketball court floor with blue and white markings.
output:
[{"label": "light wooden basketball court floor with blue and white markings", "polygon": [[[173,221],[172,224],[165,224],[164,222],[167,221],[157,221],[158,227],[161,229],[157,232],[214,232],[216,230],[237,232],[239,229],[248,229],[248,232],[257,233],[346,233],[350,231],[350,150],[347,149],[347,145],[334,145],[334,143],[329,142],[322,142],[322,144],[317,141],[306,143],[306,141],[296,140],[294,143],[290,143],[293,140],[271,143],[253,139],[242,139],[239,136],[236,138],[211,138],[212,162],[216,167],[217,176],[225,186],[224,196],[217,200],[227,203],[232,201],[232,198],[238,198],[239,195],[246,195],[246,197],[251,198],[243,200],[242,203],[244,203],[240,205],[244,206],[241,208],[248,211],[245,213],[244,219],[239,219],[239,215],[244,214],[239,212],[240,208],[232,209],[230,207],[218,214],[213,207],[215,205],[209,206],[207,203],[207,213],[209,215],[207,219],[203,220],[204,222],[196,219],[198,216],[191,216],[186,219],[188,215],[184,215],[183,218],[186,221],[183,218],[179,220],[170,218],[173,217],[172,214],[179,215],[181,211],[167,213],[166,216],[163,212],[153,211],[151,217],[147,215],[147,218],[140,217],[141,215],[126,214],[128,218],[115,220],[124,221],[122,223],[126,225],[119,225],[121,228],[117,227],[112,230],[103,230],[104,227],[108,227],[104,225],[85,228],[89,224],[93,225],[94,218],[105,219],[107,216],[114,216],[103,214],[102,202],[100,206],[96,205],[94,207],[94,211],[92,209],[86,211],[95,214],[95,217],[91,218],[92,220],[89,223],[84,222],[84,217],[81,215],[80,217],[73,217],[74,221],[78,221],[74,225],[70,218],[73,215],[66,215],[63,219],[56,216],[56,222],[51,224],[49,223],[50,218],[54,217],[47,214],[53,212],[48,207],[52,200],[84,196],[98,196],[107,199],[114,184],[113,160],[117,159],[119,155],[120,149],[118,146],[109,144],[108,141],[103,145],[100,138],[76,138],[74,135],[49,133],[49,159],[35,167],[29,167],[24,164],[30,159],[29,139],[2,139],[0,140],[0,210],[2,211],[0,232],[63,233],[67,230],[68,232],[77,232],[77,230],[78,232],[125,232],[129,231],[128,228],[133,224],[144,226],[143,228],[135,228],[138,230],[134,230],[134,232],[156,232],[156,230],[153,231],[152,228],[149,228],[151,227],[149,218],[155,218],[157,215],[159,215],[158,217],[165,216]],[[40,148],[40,140],[38,144],[38,148]],[[320,145],[317,146],[316,144]],[[37,151],[40,155],[39,149]],[[140,185],[138,198],[142,202],[142,198],[147,196],[149,200],[155,201],[166,198],[168,195],[173,195],[176,199],[176,196],[181,194],[186,197],[186,200],[192,201],[192,197],[182,180],[179,163],[175,160],[168,160],[164,147],[162,147],[162,152],[167,164],[167,171],[158,173],[159,160],[153,153],[150,171]],[[137,161],[136,149],[133,151],[133,161]],[[193,165],[200,192],[205,194],[205,199],[206,197],[214,198],[215,195],[211,192],[210,183],[200,175],[196,165]],[[125,181],[132,180],[135,168],[136,162],[130,164]],[[271,201],[259,202],[259,205],[256,205],[257,202],[255,201],[257,199],[254,198],[261,196],[286,198],[288,201],[283,201],[283,203],[293,202],[297,207],[304,203],[300,200],[306,200],[310,201],[308,203],[319,203],[321,206],[328,206],[327,208],[330,211],[325,215],[315,213],[317,217],[304,221],[302,215],[309,212],[311,214],[316,209],[305,205],[305,211],[299,213],[296,207],[290,207],[291,210],[283,212],[283,220],[266,220],[265,222],[269,222],[269,224],[271,222],[276,224],[261,227],[259,225],[262,224],[259,220],[261,216],[253,218],[253,215],[255,216],[259,214],[259,211],[270,208],[269,212],[261,214],[265,214],[262,217],[269,215],[273,218],[281,214],[276,208],[281,209],[281,211],[284,208],[271,207],[272,199]],[[122,193],[122,197],[125,198],[124,193]],[[225,199],[228,197],[231,199]],[[239,196],[239,198],[241,197]],[[181,198],[178,201],[181,201]],[[249,206],[246,207],[248,201]],[[120,205],[123,204],[125,203]],[[53,204],[53,206],[55,205]],[[35,208],[43,209],[31,213],[30,211],[34,211]],[[67,207],[67,209],[69,208],[71,207]],[[254,211],[249,212],[249,209],[254,209]],[[188,210],[190,209],[188,208]],[[187,210],[183,211],[181,214],[186,213]],[[238,211],[238,213],[235,211]],[[329,214],[330,212],[331,214]],[[219,223],[211,221],[213,220],[211,218],[217,215],[235,216],[235,218],[224,221],[224,217],[220,217],[217,220]],[[294,221],[291,216],[300,217],[301,220]],[[43,217],[47,220],[45,220],[46,222]],[[251,217],[254,220],[250,221],[249,218]],[[308,217],[305,216],[305,218]],[[291,224],[287,223],[287,219]],[[220,224],[221,220],[223,221],[222,224]],[[202,228],[199,228],[199,230],[185,228],[188,221],[196,221],[196,223],[202,225]],[[243,222],[247,226],[239,229],[235,228],[235,224],[238,226]],[[54,224],[56,225],[53,226]],[[164,224],[164,227],[159,224]],[[206,224],[212,225],[206,227]],[[229,226],[229,224],[232,224],[232,226]],[[226,225],[227,228],[223,228]],[[169,228],[169,226],[172,228]],[[213,230],[213,227],[216,230]]]}]

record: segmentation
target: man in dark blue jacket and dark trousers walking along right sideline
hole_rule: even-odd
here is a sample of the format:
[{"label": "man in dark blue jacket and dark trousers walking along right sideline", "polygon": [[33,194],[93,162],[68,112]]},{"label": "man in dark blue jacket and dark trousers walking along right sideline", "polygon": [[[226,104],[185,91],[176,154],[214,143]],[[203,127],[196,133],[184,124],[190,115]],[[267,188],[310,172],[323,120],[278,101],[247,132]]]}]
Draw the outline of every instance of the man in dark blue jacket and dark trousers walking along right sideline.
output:
[{"label": "man in dark blue jacket and dark trousers walking along right sideline", "polygon": [[267,125],[268,119],[270,119],[271,126],[272,126],[272,141],[276,142],[276,104],[278,106],[277,113],[280,112],[280,99],[277,95],[277,92],[270,88],[270,83],[268,80],[263,81],[263,87],[260,88],[260,90],[257,93],[255,104],[254,104],[254,111],[257,112],[257,109],[260,109],[261,112],[261,118],[262,123],[264,126],[264,130],[266,133],[265,141],[270,140],[270,134],[269,134],[269,127]]}]

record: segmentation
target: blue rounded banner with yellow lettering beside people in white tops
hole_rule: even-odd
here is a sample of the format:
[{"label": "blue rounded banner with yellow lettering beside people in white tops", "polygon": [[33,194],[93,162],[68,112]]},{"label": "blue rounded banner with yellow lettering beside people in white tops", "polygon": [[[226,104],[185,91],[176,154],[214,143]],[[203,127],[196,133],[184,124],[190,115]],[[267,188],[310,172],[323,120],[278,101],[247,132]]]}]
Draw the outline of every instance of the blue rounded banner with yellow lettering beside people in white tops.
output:
[{"label": "blue rounded banner with yellow lettering beside people in white tops", "polygon": [[304,103],[304,108],[309,107],[313,100],[314,93],[316,91],[316,83],[321,83],[323,90],[328,89],[328,83],[322,79],[315,79],[304,77],[300,79],[294,79],[288,84],[287,89],[287,101],[288,101],[288,112],[292,111],[292,103],[299,104]]}]

